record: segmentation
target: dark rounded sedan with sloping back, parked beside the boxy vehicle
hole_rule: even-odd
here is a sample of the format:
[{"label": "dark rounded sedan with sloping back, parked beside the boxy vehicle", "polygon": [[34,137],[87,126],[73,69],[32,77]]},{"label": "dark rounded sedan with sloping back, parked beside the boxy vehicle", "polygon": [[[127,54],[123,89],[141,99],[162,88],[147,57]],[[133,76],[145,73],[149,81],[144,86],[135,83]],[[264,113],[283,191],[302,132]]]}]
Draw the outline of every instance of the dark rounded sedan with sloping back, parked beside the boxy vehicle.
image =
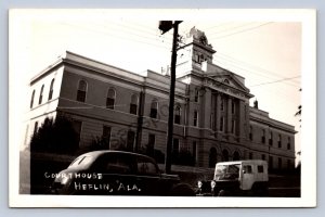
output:
[{"label": "dark rounded sedan with sloping back, parked beside the boxy vehicle", "polygon": [[78,156],[56,175],[51,192],[86,195],[195,196],[178,175],[160,173],[146,155],[122,151],[94,151]]}]

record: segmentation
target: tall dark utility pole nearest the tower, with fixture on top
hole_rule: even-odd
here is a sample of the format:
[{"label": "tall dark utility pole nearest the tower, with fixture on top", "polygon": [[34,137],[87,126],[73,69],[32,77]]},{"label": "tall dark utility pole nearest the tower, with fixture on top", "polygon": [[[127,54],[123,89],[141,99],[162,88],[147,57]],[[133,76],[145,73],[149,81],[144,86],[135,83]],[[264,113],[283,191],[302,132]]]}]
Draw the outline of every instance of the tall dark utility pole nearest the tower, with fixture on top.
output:
[{"label": "tall dark utility pole nearest the tower, with fixture on top", "polygon": [[173,28],[172,51],[171,51],[171,65],[170,65],[170,91],[169,91],[169,114],[168,114],[168,130],[167,130],[167,144],[165,157],[165,171],[171,171],[171,150],[172,150],[172,136],[173,136],[173,105],[174,105],[174,84],[176,84],[176,64],[177,64],[177,46],[179,35],[179,24],[182,21],[160,21],[159,29],[162,34]]}]

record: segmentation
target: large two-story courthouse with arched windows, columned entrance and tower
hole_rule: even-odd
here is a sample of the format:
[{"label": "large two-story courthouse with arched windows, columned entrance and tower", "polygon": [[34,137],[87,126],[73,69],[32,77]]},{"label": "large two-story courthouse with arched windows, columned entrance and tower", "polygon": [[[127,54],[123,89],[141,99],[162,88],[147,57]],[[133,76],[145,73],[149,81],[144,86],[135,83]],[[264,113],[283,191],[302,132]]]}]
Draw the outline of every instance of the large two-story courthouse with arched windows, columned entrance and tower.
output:
[{"label": "large two-story courthouse with arched windows, columned entrance and tower", "polygon": [[[191,153],[195,166],[265,159],[270,168],[295,167],[295,128],[249,105],[245,78],[212,63],[216,51],[192,28],[178,51],[173,153]],[[166,153],[170,77],[139,75],[66,52],[30,81],[25,145],[47,117],[64,114],[79,133],[79,149],[94,138],[106,149]],[[271,111],[272,112],[272,111]]]}]

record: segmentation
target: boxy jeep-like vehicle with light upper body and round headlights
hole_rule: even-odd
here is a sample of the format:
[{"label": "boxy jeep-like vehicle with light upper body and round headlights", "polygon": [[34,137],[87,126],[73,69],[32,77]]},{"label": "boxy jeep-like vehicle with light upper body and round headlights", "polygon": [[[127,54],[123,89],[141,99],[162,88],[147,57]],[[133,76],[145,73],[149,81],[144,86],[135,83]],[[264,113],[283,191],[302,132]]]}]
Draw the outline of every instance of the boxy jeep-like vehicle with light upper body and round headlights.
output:
[{"label": "boxy jeep-like vehicle with light upper body and round headlights", "polygon": [[268,187],[265,161],[220,162],[216,164],[213,180],[198,180],[196,195],[265,196]]}]

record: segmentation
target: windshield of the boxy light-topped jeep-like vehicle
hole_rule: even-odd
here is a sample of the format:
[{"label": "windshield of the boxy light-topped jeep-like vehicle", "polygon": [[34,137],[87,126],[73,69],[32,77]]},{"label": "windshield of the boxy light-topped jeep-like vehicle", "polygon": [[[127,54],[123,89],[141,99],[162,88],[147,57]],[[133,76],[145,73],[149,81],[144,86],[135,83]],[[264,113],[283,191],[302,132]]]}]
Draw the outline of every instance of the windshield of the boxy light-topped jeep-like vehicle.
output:
[{"label": "windshield of the boxy light-topped jeep-like vehicle", "polygon": [[216,180],[232,180],[239,178],[240,164],[217,165],[214,171]]}]

